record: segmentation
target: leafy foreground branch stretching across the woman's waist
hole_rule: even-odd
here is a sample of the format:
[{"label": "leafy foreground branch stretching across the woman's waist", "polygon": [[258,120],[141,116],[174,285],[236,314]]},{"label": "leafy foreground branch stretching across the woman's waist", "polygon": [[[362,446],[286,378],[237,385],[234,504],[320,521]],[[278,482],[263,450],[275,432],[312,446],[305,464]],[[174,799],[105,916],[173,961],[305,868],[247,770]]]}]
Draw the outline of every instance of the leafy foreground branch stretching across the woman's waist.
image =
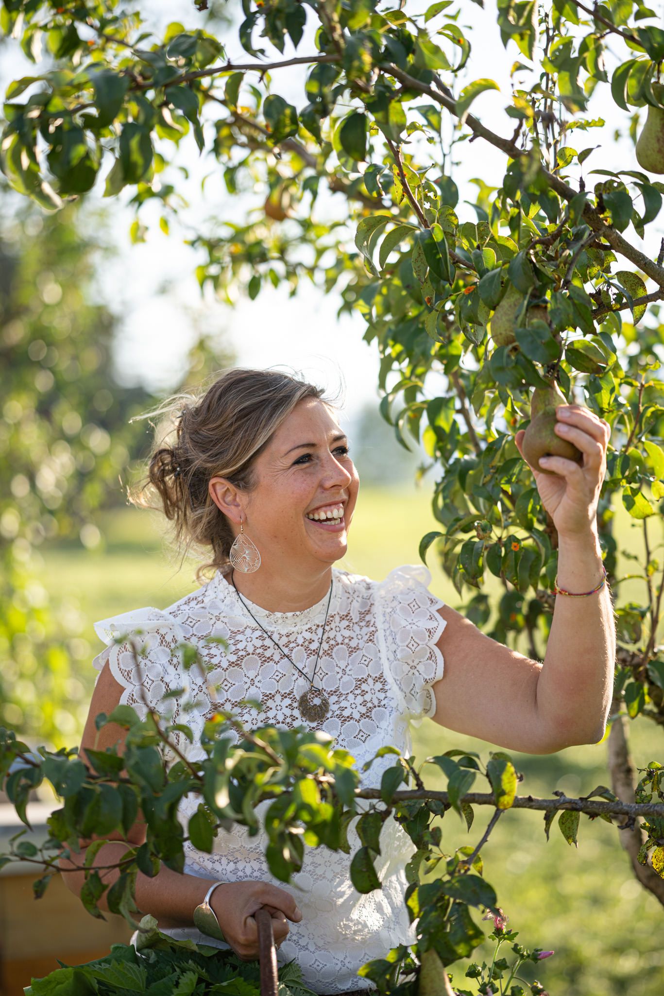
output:
[{"label": "leafy foreground branch stretching across the woman's waist", "polygon": [[[133,637],[129,639],[139,666],[140,649]],[[200,650],[183,643],[180,652],[183,670],[202,668],[214,696],[215,688],[207,677],[211,665],[204,663]],[[260,703],[251,704],[260,711]],[[59,858],[79,853],[81,844],[90,842],[86,883],[81,891],[84,905],[93,916],[103,918],[98,903],[108,893],[111,912],[137,927],[133,917],[137,911],[137,871],[153,876],[161,864],[183,871],[185,833],[197,850],[209,854],[219,830],[230,829],[234,823],[246,827],[250,836],[263,830],[268,868],[284,882],[303,868],[308,847],[340,850],[349,856],[354,887],[367,893],[381,887],[374,861],[381,854],[382,828],[392,818],[415,846],[406,866],[408,887],[404,901],[409,921],[416,923],[417,943],[412,949],[399,945],[385,959],[368,962],[360,969],[359,974],[385,994],[406,996],[413,992],[411,976],[417,968],[414,958],[421,959],[427,951],[435,951],[442,966],[468,958],[484,940],[472,910],[493,916],[494,933],[498,926],[505,925],[496,892],[484,878],[481,850],[507,810],[515,805],[544,810],[547,837],[557,817],[562,836],[574,845],[581,812],[609,823],[611,813],[656,817],[653,830],[657,820],[664,818],[664,806],[659,804],[664,803],[664,786],[658,780],[651,799],[642,805],[620,804],[604,786],[577,800],[518,798],[520,776],[511,757],[503,751],[492,752],[486,765],[475,752],[453,749],[428,757],[416,766],[414,757],[401,756],[396,748],[385,745],[359,772],[348,751],[334,747],[332,737],[323,731],[270,725],[248,729],[233,712],[219,709],[205,724],[200,744],[193,744],[193,735],[185,724],[164,721],[147,709],[147,703],[145,706],[143,721],[127,705],[116,706],[109,716],[97,717],[98,729],[116,723],[126,730],[126,737],[121,755],[116,747],[87,750],[91,768],[78,757],[76,749],[53,752],[39,748],[30,753],[15,734],[2,731],[0,777],[26,829],[12,838],[10,852],[0,856],[0,867],[20,861],[42,866],[43,874],[34,882],[35,895],[39,897],[53,874],[58,873]],[[362,774],[383,758],[386,760],[379,787],[362,787]],[[422,772],[428,765],[434,765],[447,778],[444,793],[426,791]],[[653,762],[649,772],[659,768]],[[478,778],[486,779],[488,792],[471,792]],[[650,778],[652,782],[652,774]],[[49,836],[38,847],[24,839],[30,829],[26,809],[31,791],[44,780],[50,782],[63,805],[49,818]],[[188,793],[200,796],[200,803],[185,828],[178,818],[178,804]],[[654,806],[653,796],[658,800]],[[359,805],[360,799],[368,805]],[[263,807],[263,803],[268,805]],[[435,821],[453,809],[463,816],[470,830],[474,806],[478,804],[494,809],[479,844],[446,854],[441,847],[442,829]],[[117,863],[120,873],[110,886],[95,868],[95,858],[108,835],[128,833],[139,811],[145,818],[146,839],[140,845],[127,845]],[[348,829],[353,819],[359,847],[351,855]],[[651,864],[655,871],[656,845],[653,841]],[[648,861],[647,853],[643,857],[644,862]],[[432,872],[436,873],[434,878],[423,880]],[[532,956],[525,948],[515,951],[519,963]],[[533,957],[537,959],[539,952],[536,948]],[[497,972],[500,970],[498,965]],[[493,968],[488,981],[496,977],[492,972]]]}]

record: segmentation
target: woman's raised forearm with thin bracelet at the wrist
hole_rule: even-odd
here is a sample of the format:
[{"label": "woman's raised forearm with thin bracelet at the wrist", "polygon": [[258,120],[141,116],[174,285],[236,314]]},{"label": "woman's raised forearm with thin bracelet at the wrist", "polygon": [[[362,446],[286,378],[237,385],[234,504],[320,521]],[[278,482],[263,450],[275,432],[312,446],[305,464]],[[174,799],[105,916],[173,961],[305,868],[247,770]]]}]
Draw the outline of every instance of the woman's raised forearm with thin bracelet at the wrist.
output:
[{"label": "woman's raised forearm with thin bracelet at the wrist", "polygon": [[[596,531],[558,537],[557,583],[568,592],[589,592],[602,577]],[[556,595],[547,653],[538,680],[543,723],[560,745],[601,740],[611,703],[615,624],[608,586],[573,599]]]}]

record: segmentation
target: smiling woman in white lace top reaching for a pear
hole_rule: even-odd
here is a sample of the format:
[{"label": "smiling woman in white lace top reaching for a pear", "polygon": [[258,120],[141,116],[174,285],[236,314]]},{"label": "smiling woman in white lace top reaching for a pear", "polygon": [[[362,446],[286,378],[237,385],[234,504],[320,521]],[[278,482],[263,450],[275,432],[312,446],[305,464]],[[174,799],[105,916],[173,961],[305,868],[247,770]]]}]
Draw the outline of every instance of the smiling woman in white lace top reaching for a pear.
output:
[{"label": "smiling woman in white lace top reaching for a pear", "polygon": [[[197,643],[214,665],[209,677],[222,688],[222,708],[256,725],[252,708],[236,703],[259,698],[262,723],[323,729],[358,769],[384,744],[407,754],[409,725],[424,717],[536,754],[601,739],[614,657],[595,526],[608,426],[578,405],[558,408],[558,415],[556,429],[584,454],[582,469],[553,458],[559,476],[536,473],[558,531],[558,585],[567,594],[596,590],[584,599],[556,598],[542,663],[485,636],[445,606],[428,591],[424,567],[397,567],[381,582],[334,568],[347,549],[359,481],[332,405],[318,387],[285,373],[223,373],[202,398],[185,405],[175,446],[157,449],[149,467],[177,539],[211,549],[206,567],[216,573],[164,611],[140,609],[96,623],[109,645],[95,661],[101,674],[83,748],[121,740],[117,727],[97,733],[98,713],[121,701],[144,715],[145,699],[158,709],[165,692],[185,683],[172,652],[182,640]],[[137,671],[128,644],[113,642],[132,627],[143,630],[141,642],[148,644]],[[227,648],[206,642],[210,635],[223,636]],[[193,669],[186,679],[200,705],[186,714],[194,746],[184,738],[179,746],[193,758],[214,704],[205,686],[196,685]],[[177,721],[179,697],[174,701]],[[364,784],[379,785],[389,763],[378,759]],[[196,798],[182,801],[185,827],[197,805]],[[143,839],[138,822],[127,840]],[[414,849],[394,821],[387,822],[383,841],[376,861],[382,889],[360,895],[347,856],[325,848],[308,850],[303,871],[283,887],[267,869],[263,834],[249,838],[246,828],[235,826],[215,839],[212,855],[186,844],[184,874],[166,868],[154,878],[139,873],[136,901],[173,936],[209,943],[214,917],[208,914],[207,936],[193,925],[194,910],[221,882],[209,900],[219,945],[223,936],[242,958],[255,958],[253,914],[266,906],[280,963],[297,958],[305,983],[318,993],[354,992],[366,987],[356,974],[360,965],[415,940],[403,905],[404,866]],[[351,851],[359,847],[354,822],[349,843]],[[122,844],[106,845],[94,864],[108,866],[123,851]],[[77,862],[84,858],[85,851]],[[112,882],[115,872],[102,876]],[[67,881],[79,891],[83,874],[70,873]],[[106,908],[104,899],[101,905]]]}]

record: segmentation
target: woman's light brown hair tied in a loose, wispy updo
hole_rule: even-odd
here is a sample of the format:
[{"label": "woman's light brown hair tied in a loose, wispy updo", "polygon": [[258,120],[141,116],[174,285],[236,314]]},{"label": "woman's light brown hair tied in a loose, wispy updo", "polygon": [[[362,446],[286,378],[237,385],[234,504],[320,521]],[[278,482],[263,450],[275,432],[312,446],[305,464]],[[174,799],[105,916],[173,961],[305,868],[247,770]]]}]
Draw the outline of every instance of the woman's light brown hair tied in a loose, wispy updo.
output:
[{"label": "woman's light brown hair tied in a loose, wispy updo", "polygon": [[[154,426],[147,479],[135,490],[127,488],[132,505],[156,508],[172,520],[171,540],[182,559],[192,549],[204,557],[212,548],[212,560],[196,571],[199,584],[208,569],[227,568],[234,539],[229,520],[210,496],[210,478],[225,477],[251,491],[256,458],[295,406],[308,397],[329,407],[335,403],[323,388],[289,373],[233,368],[214,377],[207,389],[174,394],[134,416],[161,420]],[[149,502],[155,496],[156,506]]]}]

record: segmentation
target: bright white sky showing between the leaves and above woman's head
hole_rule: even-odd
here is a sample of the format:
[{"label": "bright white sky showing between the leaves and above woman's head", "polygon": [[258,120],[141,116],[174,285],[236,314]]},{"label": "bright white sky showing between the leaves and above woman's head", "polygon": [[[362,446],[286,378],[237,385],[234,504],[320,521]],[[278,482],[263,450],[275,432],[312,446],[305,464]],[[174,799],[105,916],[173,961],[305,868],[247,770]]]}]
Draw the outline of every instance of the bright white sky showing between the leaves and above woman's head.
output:
[{"label": "bright white sky showing between the leaves and above woman's head", "polygon": [[[165,25],[178,19],[186,21],[187,26],[195,24],[195,10],[187,0],[158,0],[158,3],[143,0],[139,6],[145,12],[145,21],[149,26]],[[411,3],[409,0],[407,10],[418,13],[426,10],[427,6],[426,3]],[[229,7],[237,11],[240,5],[235,3]],[[500,92],[482,94],[474,104],[473,112],[492,129],[511,135],[514,120],[504,112],[510,103],[510,67],[513,62],[524,62],[524,59],[515,45],[510,44],[507,51],[503,47],[491,0],[487,0],[484,10],[471,0],[462,0],[461,11],[460,23],[470,27],[469,37],[472,40],[464,85],[481,77],[490,77],[500,87]],[[309,18],[312,19],[311,11]],[[430,27],[436,24],[432,22]],[[315,51],[312,36],[313,32],[308,28],[298,55]],[[239,44],[237,24],[224,30],[220,40],[234,61],[253,61]],[[265,44],[265,40],[261,40],[261,44]],[[612,48],[614,46],[609,41],[609,49]],[[282,58],[269,43],[266,49],[270,60]],[[15,78],[26,70],[31,71],[29,66],[21,65],[20,52],[12,50],[6,54],[9,58],[5,60],[3,55],[3,82],[6,82],[7,76]],[[293,49],[287,45],[283,58],[289,58],[292,54],[295,54]],[[610,55],[608,63],[610,74],[612,65],[615,65],[614,62],[611,64]],[[305,78],[303,67],[275,70],[272,89],[301,108],[306,103]],[[631,141],[624,136],[616,140],[614,136],[616,126],[626,131],[626,115],[615,108],[610,97],[603,93],[606,90],[598,88],[599,97],[593,97],[590,112],[594,117],[604,117],[607,124],[587,132],[572,132],[568,141],[579,151],[592,145],[600,146],[583,166],[588,185],[594,181],[589,174],[592,168],[636,168]],[[450,122],[446,122],[448,133],[451,126]],[[461,195],[457,213],[462,221],[476,220],[473,208],[464,203],[466,199],[475,199],[476,187],[471,181],[479,174],[486,181],[498,185],[505,171],[505,156],[479,139],[455,146],[455,157],[459,162],[453,167],[452,175]],[[265,192],[261,195],[260,190],[252,194],[229,195],[220,165],[211,156],[199,157],[193,140],[185,139],[177,161],[190,172],[189,180],[182,184],[189,201],[183,215],[189,231],[198,228],[207,230],[211,214],[222,220],[241,222],[245,211],[259,205],[265,198]],[[577,181],[578,171],[578,167],[569,169],[571,182]],[[208,179],[202,194],[200,179],[205,175]],[[98,181],[93,197],[101,200],[102,192],[103,183]],[[115,365],[122,381],[140,381],[155,390],[168,391],[182,373],[184,358],[196,329],[205,328],[231,347],[241,366],[278,366],[297,370],[323,384],[332,393],[340,388],[343,400],[341,421],[347,420],[351,424],[364,405],[377,404],[376,345],[363,342],[365,325],[358,315],[344,315],[337,319],[337,295],[332,293],[326,297],[320,289],[303,283],[294,298],[288,298],[284,288],[271,288],[262,291],[255,301],[238,297],[232,308],[215,301],[210,288],[201,297],[193,274],[197,262],[193,250],[182,244],[181,233],[176,227],[171,228],[170,237],[160,231],[159,212],[149,205],[146,205],[144,213],[141,210],[142,220],[148,225],[146,241],[136,245],[130,243],[128,227],[132,213],[124,206],[127,200],[128,196],[123,195],[119,202],[101,201],[111,207],[111,233],[116,256],[105,269],[100,290],[113,309],[123,316],[115,352]],[[341,195],[324,192],[315,206],[315,217],[338,217],[343,209]],[[638,243],[632,230],[625,234]],[[655,237],[655,233],[649,236]]]}]

